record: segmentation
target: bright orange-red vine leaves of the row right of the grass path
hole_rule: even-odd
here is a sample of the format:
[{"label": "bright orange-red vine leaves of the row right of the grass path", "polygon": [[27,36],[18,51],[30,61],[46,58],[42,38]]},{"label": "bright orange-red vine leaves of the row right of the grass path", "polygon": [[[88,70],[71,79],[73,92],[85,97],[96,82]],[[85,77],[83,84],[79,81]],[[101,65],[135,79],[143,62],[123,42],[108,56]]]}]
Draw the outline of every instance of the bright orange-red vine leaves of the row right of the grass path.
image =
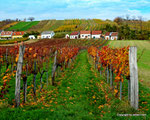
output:
[{"label": "bright orange-red vine leaves of the row right of the grass path", "polygon": [[96,59],[98,58],[98,69],[100,64],[106,70],[108,67],[113,70],[116,75],[115,82],[124,81],[124,77],[129,76],[129,47],[124,48],[110,48],[104,46],[100,50],[96,47],[90,47],[88,53]]}]

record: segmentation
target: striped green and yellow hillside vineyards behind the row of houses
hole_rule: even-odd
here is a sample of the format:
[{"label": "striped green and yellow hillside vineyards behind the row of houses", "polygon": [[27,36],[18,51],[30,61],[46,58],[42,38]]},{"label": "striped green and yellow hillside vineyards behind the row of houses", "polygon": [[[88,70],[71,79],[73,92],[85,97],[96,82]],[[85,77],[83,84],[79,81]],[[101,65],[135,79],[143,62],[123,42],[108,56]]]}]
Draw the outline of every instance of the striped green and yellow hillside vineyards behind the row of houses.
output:
[{"label": "striped green and yellow hillside vineyards behind the row of houses", "polygon": [[72,32],[81,30],[101,30],[106,24],[116,25],[114,22],[107,22],[99,19],[66,19],[66,20],[42,20],[34,22],[13,22],[6,24],[0,29],[20,31],[47,31]]}]

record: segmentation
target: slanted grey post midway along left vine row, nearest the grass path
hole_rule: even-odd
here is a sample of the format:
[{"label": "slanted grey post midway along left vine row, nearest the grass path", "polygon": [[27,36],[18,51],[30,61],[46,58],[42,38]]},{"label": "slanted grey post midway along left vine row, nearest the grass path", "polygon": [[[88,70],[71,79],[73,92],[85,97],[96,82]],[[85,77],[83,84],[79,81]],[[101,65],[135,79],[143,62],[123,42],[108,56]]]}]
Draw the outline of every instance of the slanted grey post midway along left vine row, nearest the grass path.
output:
[{"label": "slanted grey post midway along left vine row, nearest the grass path", "polygon": [[55,51],[54,64],[52,68],[52,85],[54,85],[54,81],[55,81],[56,68],[57,68],[57,50]]}]

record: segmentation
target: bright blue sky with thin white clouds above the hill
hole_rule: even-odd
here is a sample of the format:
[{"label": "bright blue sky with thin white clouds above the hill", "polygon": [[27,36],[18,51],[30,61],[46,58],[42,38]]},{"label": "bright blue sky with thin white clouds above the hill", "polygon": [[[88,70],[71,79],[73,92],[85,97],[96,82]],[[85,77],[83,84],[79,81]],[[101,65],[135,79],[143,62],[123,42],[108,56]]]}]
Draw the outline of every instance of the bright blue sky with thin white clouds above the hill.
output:
[{"label": "bright blue sky with thin white clouds above the hill", "polygon": [[150,0],[0,0],[0,20],[28,17],[113,20],[126,15],[150,20]]}]

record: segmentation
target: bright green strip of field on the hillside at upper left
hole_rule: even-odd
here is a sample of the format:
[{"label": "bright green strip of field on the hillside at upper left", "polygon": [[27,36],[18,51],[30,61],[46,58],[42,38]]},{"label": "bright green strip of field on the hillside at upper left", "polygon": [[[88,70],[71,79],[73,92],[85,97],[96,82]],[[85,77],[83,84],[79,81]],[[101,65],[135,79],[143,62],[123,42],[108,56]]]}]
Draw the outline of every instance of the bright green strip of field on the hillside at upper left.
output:
[{"label": "bright green strip of field on the hillside at upper left", "polygon": [[7,30],[19,30],[19,31],[27,31],[32,26],[37,25],[39,21],[33,22],[19,22],[18,24],[8,28]]}]

